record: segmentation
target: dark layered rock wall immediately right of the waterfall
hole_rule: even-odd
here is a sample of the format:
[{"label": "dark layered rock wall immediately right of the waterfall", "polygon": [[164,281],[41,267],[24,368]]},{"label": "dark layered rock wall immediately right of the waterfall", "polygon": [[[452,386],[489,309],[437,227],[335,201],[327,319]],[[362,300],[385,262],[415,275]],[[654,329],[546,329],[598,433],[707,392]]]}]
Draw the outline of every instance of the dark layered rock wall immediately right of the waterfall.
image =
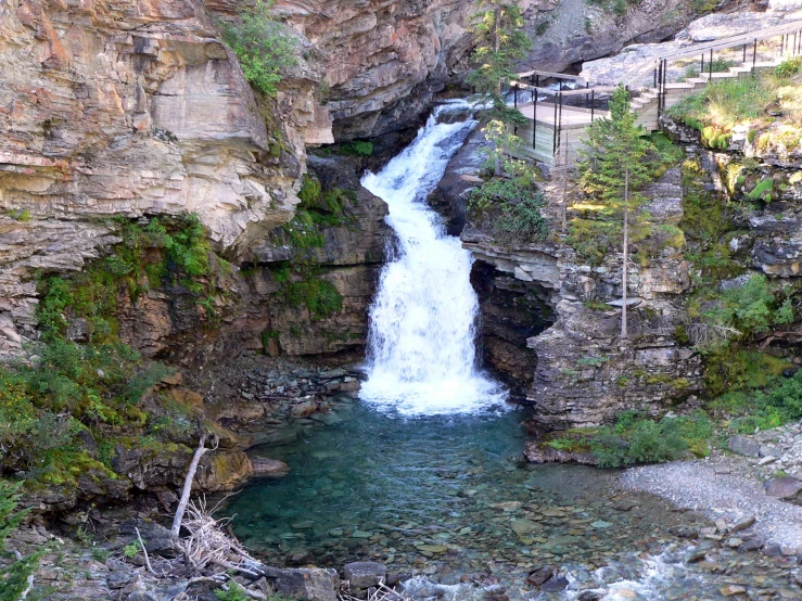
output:
[{"label": "dark layered rock wall immediately right of the waterfall", "polygon": [[[679,221],[678,169],[646,195],[647,210],[658,221]],[[622,343],[619,257],[591,267],[562,244],[510,248],[470,229],[462,241],[476,257],[476,280],[484,283],[480,298],[488,360],[524,384],[538,426],[599,425],[628,409],[655,413],[669,399],[699,389],[700,357],[674,337],[689,289],[680,247],[664,247],[647,266],[631,265],[629,338]],[[521,379],[522,372],[527,375]]]}]

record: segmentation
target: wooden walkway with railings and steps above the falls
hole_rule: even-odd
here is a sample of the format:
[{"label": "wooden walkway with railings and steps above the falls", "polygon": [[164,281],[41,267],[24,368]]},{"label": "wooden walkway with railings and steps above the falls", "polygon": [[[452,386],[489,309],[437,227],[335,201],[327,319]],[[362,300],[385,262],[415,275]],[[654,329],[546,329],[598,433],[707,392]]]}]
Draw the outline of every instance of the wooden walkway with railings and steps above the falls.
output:
[{"label": "wooden walkway with railings and steps above the falls", "polygon": [[[737,64],[725,72],[713,71],[716,61],[725,55],[728,62]],[[637,115],[637,123],[647,131],[655,131],[665,110],[698,92],[710,81],[774,68],[782,61],[800,55],[802,21],[795,21],[763,29],[756,35],[733,36],[666,52],[635,65],[622,76],[620,84],[631,90],[631,110]],[[734,61],[733,57],[737,59]],[[698,75],[670,81],[676,77],[677,66],[680,72],[692,66]],[[606,105],[606,100],[618,86],[591,87],[589,81],[578,76],[542,71],[521,73],[517,77],[510,81],[513,103],[527,119],[526,125],[515,130],[524,141],[517,154],[553,165],[559,153],[561,164],[562,161],[573,163],[576,149],[583,144],[585,128],[598,118],[609,117],[609,113],[598,105]],[[540,80],[557,80],[559,89],[540,87]],[[563,89],[567,87],[574,89]],[[523,102],[535,97],[547,100]]]}]

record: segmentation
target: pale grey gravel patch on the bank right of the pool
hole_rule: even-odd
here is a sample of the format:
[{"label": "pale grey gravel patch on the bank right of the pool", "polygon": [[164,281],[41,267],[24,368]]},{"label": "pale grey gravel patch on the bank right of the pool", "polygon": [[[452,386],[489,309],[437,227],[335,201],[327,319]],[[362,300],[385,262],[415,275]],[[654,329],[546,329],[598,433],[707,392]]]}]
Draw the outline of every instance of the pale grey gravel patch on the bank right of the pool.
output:
[{"label": "pale grey gravel patch on the bank right of the pool", "polygon": [[802,507],[766,496],[746,458],[717,456],[633,468],[621,483],[713,520],[731,523],[754,515],[753,530],[766,544],[802,551]]}]

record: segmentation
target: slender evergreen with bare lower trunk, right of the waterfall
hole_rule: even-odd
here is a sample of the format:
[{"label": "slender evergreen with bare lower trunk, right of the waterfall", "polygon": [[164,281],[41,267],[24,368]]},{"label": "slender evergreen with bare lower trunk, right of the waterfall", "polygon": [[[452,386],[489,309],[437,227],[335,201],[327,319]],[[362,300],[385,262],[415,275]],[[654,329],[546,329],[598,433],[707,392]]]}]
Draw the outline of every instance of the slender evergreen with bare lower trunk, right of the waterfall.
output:
[{"label": "slender evergreen with bare lower trunk, right of the waterfall", "polygon": [[586,148],[577,165],[582,189],[600,201],[623,222],[621,268],[621,337],[627,337],[626,289],[629,260],[631,213],[644,202],[642,189],[650,180],[646,156],[651,143],[635,124],[629,93],[620,86],[610,100],[610,118],[595,120],[587,129]]}]

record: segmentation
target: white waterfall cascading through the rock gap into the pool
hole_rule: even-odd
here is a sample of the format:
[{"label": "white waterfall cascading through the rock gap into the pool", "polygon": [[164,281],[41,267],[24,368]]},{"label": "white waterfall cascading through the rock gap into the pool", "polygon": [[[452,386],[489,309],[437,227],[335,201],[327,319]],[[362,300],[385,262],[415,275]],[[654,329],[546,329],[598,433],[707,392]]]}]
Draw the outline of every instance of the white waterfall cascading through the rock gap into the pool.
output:
[{"label": "white waterfall cascading through the rock gap into the pool", "polygon": [[425,203],[448,161],[476,126],[438,123],[464,101],[438,106],[415,141],[362,186],[390,206],[397,244],[370,310],[364,400],[402,414],[472,412],[499,405],[504,393],[476,369],[473,257],[446,234]]}]

